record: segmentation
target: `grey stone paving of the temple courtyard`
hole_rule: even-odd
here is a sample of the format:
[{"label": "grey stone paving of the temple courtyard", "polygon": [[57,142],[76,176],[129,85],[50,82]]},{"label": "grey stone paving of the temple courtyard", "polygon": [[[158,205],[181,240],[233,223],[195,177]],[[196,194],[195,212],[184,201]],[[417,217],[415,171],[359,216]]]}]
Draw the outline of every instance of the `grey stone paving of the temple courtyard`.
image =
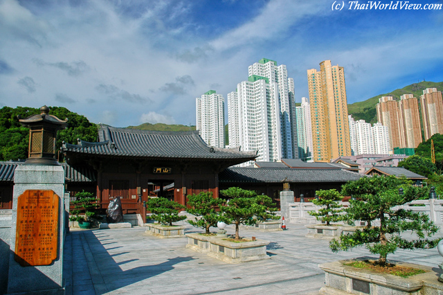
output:
[{"label": "grey stone paving of the temple courtyard", "polygon": [[[277,232],[241,228],[243,237],[271,241],[271,259],[235,265],[186,248],[187,238],[160,239],[145,234],[142,227],[71,231],[64,244],[66,295],[314,295],[325,283],[318,264],[370,256],[365,248],[332,253],[327,240],[305,238],[304,225],[287,224],[287,228]],[[228,234],[235,232],[233,226],[226,229]],[[192,232],[201,230],[188,225],[186,233]],[[397,250],[388,260],[428,265],[438,272],[443,258],[437,249]]]}]

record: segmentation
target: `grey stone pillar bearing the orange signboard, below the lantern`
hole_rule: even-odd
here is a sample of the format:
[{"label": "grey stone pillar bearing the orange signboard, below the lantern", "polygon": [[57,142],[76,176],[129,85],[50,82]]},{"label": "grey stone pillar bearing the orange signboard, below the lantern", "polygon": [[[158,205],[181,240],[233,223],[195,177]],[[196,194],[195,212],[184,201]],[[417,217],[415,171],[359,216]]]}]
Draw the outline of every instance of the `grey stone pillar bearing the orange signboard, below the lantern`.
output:
[{"label": "grey stone pillar bearing the orange signboard, below the lantern", "polygon": [[14,182],[7,294],[64,294],[64,170],[20,165]]}]

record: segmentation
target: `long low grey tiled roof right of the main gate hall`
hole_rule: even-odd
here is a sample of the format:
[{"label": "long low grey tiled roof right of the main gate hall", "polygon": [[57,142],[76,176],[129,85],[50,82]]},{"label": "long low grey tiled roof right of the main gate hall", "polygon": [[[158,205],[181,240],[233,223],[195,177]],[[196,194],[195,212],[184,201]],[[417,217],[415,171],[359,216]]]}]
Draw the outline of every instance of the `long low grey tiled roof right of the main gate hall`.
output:
[{"label": "long low grey tiled roof right of the main gate hall", "polygon": [[280,183],[284,178],[291,182],[346,182],[363,175],[347,170],[287,169],[287,168],[242,168],[230,167],[219,174],[219,182],[266,182]]}]

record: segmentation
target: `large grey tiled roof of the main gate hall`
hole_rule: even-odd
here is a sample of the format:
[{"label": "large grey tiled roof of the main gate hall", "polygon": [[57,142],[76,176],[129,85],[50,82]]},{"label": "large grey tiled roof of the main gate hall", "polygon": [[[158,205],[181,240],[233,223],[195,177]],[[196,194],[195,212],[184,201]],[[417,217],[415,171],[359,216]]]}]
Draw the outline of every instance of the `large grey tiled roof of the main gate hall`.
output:
[{"label": "large grey tiled roof of the main gate hall", "polygon": [[204,143],[198,131],[160,132],[101,125],[98,136],[98,143],[64,143],[62,150],[117,157],[237,159],[237,163],[257,157],[257,152],[210,147]]}]

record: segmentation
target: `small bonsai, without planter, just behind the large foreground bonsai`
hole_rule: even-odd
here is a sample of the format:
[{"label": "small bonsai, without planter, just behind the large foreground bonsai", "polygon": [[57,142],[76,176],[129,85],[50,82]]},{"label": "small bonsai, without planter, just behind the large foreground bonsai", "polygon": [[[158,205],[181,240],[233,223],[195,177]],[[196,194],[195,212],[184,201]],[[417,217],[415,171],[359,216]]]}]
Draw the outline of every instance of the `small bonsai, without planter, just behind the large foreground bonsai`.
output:
[{"label": "small bonsai, without planter, just behind the large foreground bonsai", "polygon": [[318,199],[313,199],[312,203],[317,206],[324,206],[318,212],[309,211],[309,215],[315,216],[317,220],[323,220],[326,225],[331,225],[331,222],[339,222],[344,220],[343,206],[338,204],[338,201],[343,199],[343,196],[338,193],[336,189],[332,190],[317,190],[316,195]]}]

